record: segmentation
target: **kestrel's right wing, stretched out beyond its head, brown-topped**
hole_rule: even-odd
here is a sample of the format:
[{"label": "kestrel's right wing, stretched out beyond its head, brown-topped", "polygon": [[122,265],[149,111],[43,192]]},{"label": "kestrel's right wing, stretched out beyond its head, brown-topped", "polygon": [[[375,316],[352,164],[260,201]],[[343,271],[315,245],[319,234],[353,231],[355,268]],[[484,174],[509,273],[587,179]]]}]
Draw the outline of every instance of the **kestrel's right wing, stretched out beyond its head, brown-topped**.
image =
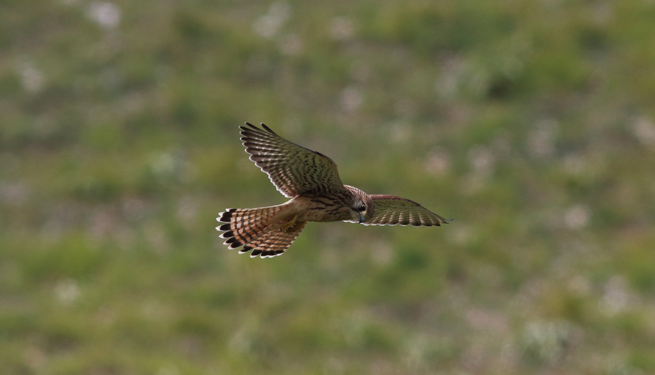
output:
[{"label": "kestrel's right wing, stretched out beyond its head, brown-topped", "polygon": [[383,194],[370,197],[375,204],[375,211],[373,217],[364,221],[364,225],[441,226],[449,222],[413,200]]}]

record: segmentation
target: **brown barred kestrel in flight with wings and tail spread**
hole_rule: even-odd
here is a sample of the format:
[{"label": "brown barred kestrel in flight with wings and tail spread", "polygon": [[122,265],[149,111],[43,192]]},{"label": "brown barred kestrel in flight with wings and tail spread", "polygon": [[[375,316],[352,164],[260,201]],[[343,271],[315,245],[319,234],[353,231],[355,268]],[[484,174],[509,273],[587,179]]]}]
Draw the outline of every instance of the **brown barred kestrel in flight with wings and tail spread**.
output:
[{"label": "brown barred kestrel in flight with wings and tail spread", "polygon": [[225,232],[230,249],[243,246],[240,254],[250,257],[281,255],[295,241],[309,221],[347,221],[364,225],[440,226],[448,221],[417,202],[399,196],[366,194],[343,185],[337,164],[320,152],[305,149],[252,124],[239,126],[250,160],[269,175],[287,198],[280,205],[259,208],[230,208],[216,220]]}]

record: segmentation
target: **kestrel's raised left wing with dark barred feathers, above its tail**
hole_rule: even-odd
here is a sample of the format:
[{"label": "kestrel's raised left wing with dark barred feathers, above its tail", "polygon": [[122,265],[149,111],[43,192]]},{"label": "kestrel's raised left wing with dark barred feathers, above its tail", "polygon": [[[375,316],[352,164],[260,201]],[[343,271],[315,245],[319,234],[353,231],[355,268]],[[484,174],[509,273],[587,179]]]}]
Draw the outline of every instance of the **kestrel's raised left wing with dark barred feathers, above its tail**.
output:
[{"label": "kestrel's raised left wing with dark barred feathers, above its tail", "polygon": [[345,190],[337,164],[320,152],[305,149],[275,134],[261,124],[239,126],[250,160],[255,162],[279,192],[291,198],[305,192],[339,192]]}]

